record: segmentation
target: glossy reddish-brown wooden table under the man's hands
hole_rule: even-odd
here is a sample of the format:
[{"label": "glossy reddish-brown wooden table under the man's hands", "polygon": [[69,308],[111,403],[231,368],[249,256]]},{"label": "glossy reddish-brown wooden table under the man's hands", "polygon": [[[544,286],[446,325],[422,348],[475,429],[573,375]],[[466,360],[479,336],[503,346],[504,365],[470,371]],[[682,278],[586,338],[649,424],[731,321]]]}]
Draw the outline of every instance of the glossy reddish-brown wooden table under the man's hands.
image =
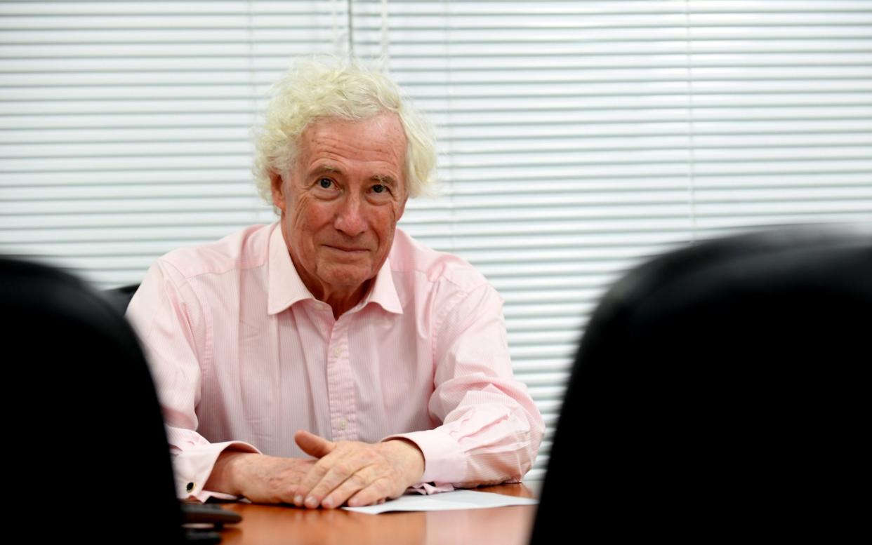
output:
[{"label": "glossy reddish-brown wooden table under the man's hands", "polygon": [[[539,482],[479,488],[486,492],[534,498]],[[222,545],[527,545],[535,505],[461,509],[427,513],[364,515],[344,509],[228,503],[221,507],[242,515],[225,528]]]}]

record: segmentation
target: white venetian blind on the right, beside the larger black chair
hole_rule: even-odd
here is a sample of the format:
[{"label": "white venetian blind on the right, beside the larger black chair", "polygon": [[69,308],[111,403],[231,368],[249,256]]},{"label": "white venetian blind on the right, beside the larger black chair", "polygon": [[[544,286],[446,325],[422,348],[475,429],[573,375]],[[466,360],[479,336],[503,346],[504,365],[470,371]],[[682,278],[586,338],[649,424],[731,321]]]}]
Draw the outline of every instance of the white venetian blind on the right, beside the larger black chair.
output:
[{"label": "white venetian blind on the right, beside the larger black chair", "polygon": [[872,222],[872,2],[353,3],[439,124],[445,197],[407,230],[506,299],[548,423],[617,274],[696,239]]}]

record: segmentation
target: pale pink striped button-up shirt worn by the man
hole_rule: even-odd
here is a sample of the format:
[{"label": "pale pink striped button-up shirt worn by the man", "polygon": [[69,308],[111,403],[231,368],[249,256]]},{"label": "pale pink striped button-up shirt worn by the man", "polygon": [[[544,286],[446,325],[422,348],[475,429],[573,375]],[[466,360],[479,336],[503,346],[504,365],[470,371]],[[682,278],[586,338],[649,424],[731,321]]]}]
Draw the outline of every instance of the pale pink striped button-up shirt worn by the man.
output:
[{"label": "pale pink striped button-up shirt worn by the man", "polygon": [[306,457],[294,434],[413,441],[429,491],[520,480],[542,416],[514,380],[502,301],[467,262],[399,229],[371,290],[338,320],[296,273],[278,224],[181,248],[127,310],[167,421],[180,497],[228,447]]}]

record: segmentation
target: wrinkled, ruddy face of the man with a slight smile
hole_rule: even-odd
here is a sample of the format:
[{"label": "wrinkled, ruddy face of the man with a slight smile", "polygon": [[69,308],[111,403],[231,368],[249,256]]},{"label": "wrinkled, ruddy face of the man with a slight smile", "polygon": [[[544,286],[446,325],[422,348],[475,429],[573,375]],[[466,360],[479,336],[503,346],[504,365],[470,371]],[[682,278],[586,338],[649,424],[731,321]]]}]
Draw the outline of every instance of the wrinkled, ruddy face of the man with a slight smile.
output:
[{"label": "wrinkled, ruddy face of the man with a slight smile", "polygon": [[405,209],[404,166],[396,115],[322,119],[303,131],[290,179],[273,179],[273,202],[296,271],[317,299],[356,303],[385,263]]}]

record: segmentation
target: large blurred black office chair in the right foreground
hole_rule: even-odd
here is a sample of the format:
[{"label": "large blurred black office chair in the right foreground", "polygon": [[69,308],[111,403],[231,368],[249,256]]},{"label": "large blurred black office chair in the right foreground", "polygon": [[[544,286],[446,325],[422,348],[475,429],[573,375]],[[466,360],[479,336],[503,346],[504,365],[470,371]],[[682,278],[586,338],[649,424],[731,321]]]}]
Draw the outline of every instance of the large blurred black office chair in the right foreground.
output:
[{"label": "large blurred black office chair in the right foreground", "polygon": [[760,232],[637,267],[584,333],[532,542],[859,525],[870,342],[867,228]]}]

